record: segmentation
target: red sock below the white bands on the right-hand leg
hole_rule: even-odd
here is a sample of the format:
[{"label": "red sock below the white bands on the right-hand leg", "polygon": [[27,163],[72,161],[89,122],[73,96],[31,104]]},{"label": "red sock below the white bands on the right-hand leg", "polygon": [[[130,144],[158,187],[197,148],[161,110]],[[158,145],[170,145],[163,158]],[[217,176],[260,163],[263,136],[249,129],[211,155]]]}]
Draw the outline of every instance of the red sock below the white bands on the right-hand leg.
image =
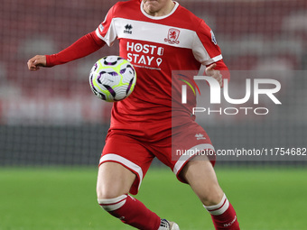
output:
[{"label": "red sock below the white bands on the right-hand leg", "polygon": [[229,203],[228,209],[219,216],[211,215],[216,230],[240,230],[234,207]]}]

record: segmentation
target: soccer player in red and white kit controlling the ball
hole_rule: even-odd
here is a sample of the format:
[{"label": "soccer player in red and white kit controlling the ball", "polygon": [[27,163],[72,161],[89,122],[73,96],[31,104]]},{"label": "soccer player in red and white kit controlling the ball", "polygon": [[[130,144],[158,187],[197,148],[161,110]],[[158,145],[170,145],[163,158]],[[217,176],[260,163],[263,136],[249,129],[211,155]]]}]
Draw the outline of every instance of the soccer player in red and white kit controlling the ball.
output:
[{"label": "soccer player in red and white kit controlling the ball", "polygon": [[239,229],[236,212],[219,187],[213,169],[215,159],[200,155],[172,158],[174,146],[214,151],[208,134],[194,122],[195,117],[179,106],[180,119],[172,119],[172,70],[198,70],[202,66],[220,86],[222,78],[228,78],[221,74],[228,68],[213,32],[203,20],[172,0],[117,2],[96,31],[59,53],[36,55],[28,60],[28,68],[38,70],[76,60],[105,44],[111,46],[116,39],[119,55],[135,66],[137,83],[133,94],[112,108],[99,162],[98,204],[138,229],[179,229],[129,195],[137,194],[157,157],[181,182],[191,186],[209,211],[215,229]]}]

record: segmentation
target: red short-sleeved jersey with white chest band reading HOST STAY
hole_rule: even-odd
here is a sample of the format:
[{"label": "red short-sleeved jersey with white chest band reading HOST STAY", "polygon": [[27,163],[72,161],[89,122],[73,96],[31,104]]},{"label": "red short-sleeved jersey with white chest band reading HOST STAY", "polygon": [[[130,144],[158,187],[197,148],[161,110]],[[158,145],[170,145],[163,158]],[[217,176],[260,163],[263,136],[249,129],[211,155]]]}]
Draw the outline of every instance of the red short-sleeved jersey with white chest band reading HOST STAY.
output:
[{"label": "red short-sleeved jersey with white chest band reading HOST STAY", "polygon": [[[165,137],[172,128],[172,70],[199,70],[222,60],[209,26],[174,2],[161,17],[146,14],[143,1],[114,5],[98,26],[96,35],[108,46],[118,39],[119,55],[136,70],[134,92],[114,103],[111,130],[121,130],[147,141]],[[179,103],[180,104],[180,103]],[[178,107],[187,119],[186,108]]]}]

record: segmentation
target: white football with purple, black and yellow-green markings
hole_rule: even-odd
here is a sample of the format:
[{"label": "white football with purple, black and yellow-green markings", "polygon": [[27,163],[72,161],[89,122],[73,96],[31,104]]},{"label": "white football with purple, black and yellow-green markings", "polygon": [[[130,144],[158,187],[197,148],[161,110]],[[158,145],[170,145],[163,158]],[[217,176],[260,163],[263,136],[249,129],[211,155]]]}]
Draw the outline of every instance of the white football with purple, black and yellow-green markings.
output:
[{"label": "white football with purple, black and yellow-green markings", "polygon": [[135,88],[136,72],[133,65],[118,56],[98,60],[89,73],[89,86],[93,93],[107,102],[128,97]]}]

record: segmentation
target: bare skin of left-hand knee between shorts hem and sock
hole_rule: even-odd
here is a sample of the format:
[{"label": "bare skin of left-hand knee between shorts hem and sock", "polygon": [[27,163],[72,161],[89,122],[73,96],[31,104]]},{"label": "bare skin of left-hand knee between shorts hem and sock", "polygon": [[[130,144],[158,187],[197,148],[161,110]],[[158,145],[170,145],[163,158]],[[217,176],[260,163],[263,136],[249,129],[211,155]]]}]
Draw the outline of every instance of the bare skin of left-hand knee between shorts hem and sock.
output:
[{"label": "bare skin of left-hand knee between shorts hem and sock", "polygon": [[117,162],[104,162],[98,169],[97,195],[98,198],[117,198],[129,193],[135,173]]}]

